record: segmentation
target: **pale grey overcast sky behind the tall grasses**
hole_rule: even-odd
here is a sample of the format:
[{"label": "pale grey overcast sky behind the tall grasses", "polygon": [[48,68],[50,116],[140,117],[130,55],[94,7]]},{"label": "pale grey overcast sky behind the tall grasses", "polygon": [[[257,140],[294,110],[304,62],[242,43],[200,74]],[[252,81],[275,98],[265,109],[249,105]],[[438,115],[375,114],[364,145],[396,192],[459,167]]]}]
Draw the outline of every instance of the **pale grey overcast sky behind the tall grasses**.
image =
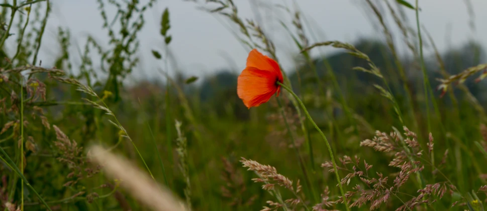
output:
[{"label": "pale grey overcast sky behind the tall grasses", "polygon": [[[121,0],[120,0],[121,1]],[[142,3],[147,0],[140,0]],[[290,26],[289,15],[277,7],[268,7],[280,4],[291,10],[298,2],[299,9],[310,26],[307,33],[314,41],[339,40],[353,43],[359,37],[374,37],[383,39],[380,31],[375,31],[369,16],[365,15],[363,0],[234,0],[237,3],[239,14],[244,18],[258,20],[276,44],[278,57],[286,69],[293,66],[293,55],[298,53],[297,48],[289,39],[288,34],[278,24],[284,21]],[[379,0],[380,2],[381,0]],[[487,1],[470,0],[472,3],[476,34],[472,35],[468,25],[468,11],[465,5],[468,0],[420,0],[420,20],[427,27],[437,47],[444,50],[459,46],[468,39],[477,39],[482,45],[487,44],[484,35],[487,34]],[[50,54],[58,52],[55,37],[57,27],[63,26],[71,30],[72,44],[83,48],[86,36],[94,36],[101,43],[107,43],[107,32],[102,29],[102,19],[96,0],[53,0],[53,13],[48,22],[47,36],[43,40],[40,58],[43,61],[52,61]],[[106,1],[104,1],[106,2]],[[122,1],[121,1],[122,2]],[[146,25],[140,33],[141,61],[144,73],[134,73],[136,77],[161,77],[156,68],[158,63],[153,59],[151,49],[162,49],[162,38],[159,35],[159,22],[162,11],[169,8],[172,35],[170,50],[177,59],[178,67],[188,75],[205,76],[224,68],[240,72],[244,66],[248,51],[232,35],[235,26],[229,24],[221,16],[211,15],[198,10],[200,4],[183,0],[159,0],[157,4],[146,13]],[[259,2],[265,2],[262,6]],[[414,0],[409,0],[414,4]],[[259,8],[258,10],[256,8]],[[415,23],[414,11],[405,10],[410,23]],[[109,19],[115,15],[109,10]],[[372,17],[373,18],[373,17]],[[396,34],[399,33],[392,20],[387,21]],[[292,29],[291,29],[292,30]],[[447,34],[451,35],[447,40]],[[483,36],[481,36],[483,35]],[[51,38],[49,38],[51,37]],[[480,39],[481,38],[481,39]],[[11,39],[9,46],[14,46]],[[397,39],[398,43],[400,38]],[[76,47],[72,47],[77,55]],[[324,50],[324,49],[323,49]],[[318,51],[313,52],[318,55]],[[79,59],[73,58],[74,64]],[[171,70],[170,70],[171,71]],[[287,70],[289,71],[289,70]]]}]

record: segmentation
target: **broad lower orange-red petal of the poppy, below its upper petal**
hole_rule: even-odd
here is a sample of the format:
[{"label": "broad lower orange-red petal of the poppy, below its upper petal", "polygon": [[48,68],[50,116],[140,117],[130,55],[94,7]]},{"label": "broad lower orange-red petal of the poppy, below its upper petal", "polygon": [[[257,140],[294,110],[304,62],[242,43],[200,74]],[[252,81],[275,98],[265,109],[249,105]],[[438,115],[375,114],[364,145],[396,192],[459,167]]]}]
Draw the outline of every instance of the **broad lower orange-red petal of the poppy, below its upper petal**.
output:
[{"label": "broad lower orange-red petal of the poppy, below its upper petal", "polygon": [[255,67],[245,68],[237,80],[237,94],[247,108],[267,102],[277,88],[272,72]]}]

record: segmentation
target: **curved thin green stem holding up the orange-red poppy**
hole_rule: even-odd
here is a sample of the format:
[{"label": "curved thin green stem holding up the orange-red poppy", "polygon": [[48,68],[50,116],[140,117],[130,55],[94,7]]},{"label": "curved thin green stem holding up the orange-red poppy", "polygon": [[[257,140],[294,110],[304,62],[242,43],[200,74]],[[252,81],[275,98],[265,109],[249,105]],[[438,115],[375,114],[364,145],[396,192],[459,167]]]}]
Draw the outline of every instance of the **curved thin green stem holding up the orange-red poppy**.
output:
[{"label": "curved thin green stem holding up the orange-red poppy", "polygon": [[310,120],[310,122],[313,124],[313,126],[315,126],[316,130],[318,130],[318,132],[320,133],[323,140],[325,140],[326,146],[328,147],[328,151],[330,152],[330,158],[331,158],[331,161],[333,163],[333,170],[335,172],[335,176],[337,177],[338,186],[340,187],[340,192],[342,194],[343,203],[345,203],[345,208],[347,209],[347,211],[350,211],[350,208],[348,207],[348,202],[345,198],[345,192],[343,191],[342,183],[340,182],[341,179],[340,179],[340,175],[338,174],[337,164],[335,162],[335,156],[333,156],[333,150],[331,149],[331,146],[330,146],[330,143],[328,142],[328,139],[326,138],[323,131],[320,130],[318,125],[316,125],[315,121],[313,121],[313,118],[311,118],[310,113],[308,112],[308,109],[306,109],[305,104],[303,104],[301,99],[293,92],[293,90],[289,89],[289,87],[285,86],[284,84],[282,84],[280,82],[277,82],[277,84],[280,85],[282,88],[284,88],[287,92],[289,92],[289,94],[293,95],[294,98],[296,98],[296,100],[300,104],[301,108],[305,112],[305,115],[308,118],[308,120]]}]

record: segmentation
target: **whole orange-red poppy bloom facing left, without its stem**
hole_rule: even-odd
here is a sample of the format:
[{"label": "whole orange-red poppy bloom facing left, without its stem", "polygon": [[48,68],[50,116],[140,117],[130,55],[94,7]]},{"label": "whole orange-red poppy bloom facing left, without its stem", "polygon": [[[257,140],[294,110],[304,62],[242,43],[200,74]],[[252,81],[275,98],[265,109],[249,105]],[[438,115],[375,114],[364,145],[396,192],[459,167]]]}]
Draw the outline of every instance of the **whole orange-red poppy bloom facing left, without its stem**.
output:
[{"label": "whole orange-red poppy bloom facing left, without its stem", "polygon": [[262,55],[256,49],[249,53],[247,67],[237,80],[237,94],[247,108],[257,107],[269,101],[277,92],[279,96],[282,73],[273,59]]}]

